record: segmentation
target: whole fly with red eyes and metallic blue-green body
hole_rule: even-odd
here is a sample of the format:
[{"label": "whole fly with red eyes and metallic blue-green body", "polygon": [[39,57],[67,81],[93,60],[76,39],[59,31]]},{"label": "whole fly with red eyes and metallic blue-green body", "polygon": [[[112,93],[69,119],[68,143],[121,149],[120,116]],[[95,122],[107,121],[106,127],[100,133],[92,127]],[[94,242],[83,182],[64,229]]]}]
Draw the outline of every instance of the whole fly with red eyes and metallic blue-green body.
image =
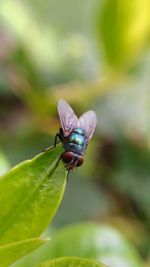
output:
[{"label": "whole fly with red eyes and metallic blue-green body", "polygon": [[92,110],[77,118],[65,100],[59,100],[58,114],[61,128],[55,136],[54,146],[58,143],[58,139],[63,143],[65,151],[61,159],[66,169],[70,171],[83,164],[83,155],[95,130],[97,118]]}]

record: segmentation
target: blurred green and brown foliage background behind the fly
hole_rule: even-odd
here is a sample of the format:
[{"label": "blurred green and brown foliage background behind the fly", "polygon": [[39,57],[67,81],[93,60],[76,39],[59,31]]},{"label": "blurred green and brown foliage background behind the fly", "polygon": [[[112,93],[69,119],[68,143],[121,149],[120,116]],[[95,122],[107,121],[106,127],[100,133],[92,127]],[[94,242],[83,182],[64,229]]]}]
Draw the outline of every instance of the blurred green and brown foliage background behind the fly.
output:
[{"label": "blurred green and brown foliage background behind the fly", "polygon": [[149,73],[149,0],[0,1],[0,173],[53,145],[60,98],[77,115],[95,110],[85,163],[69,175],[53,227],[114,226],[143,266],[150,266]]}]

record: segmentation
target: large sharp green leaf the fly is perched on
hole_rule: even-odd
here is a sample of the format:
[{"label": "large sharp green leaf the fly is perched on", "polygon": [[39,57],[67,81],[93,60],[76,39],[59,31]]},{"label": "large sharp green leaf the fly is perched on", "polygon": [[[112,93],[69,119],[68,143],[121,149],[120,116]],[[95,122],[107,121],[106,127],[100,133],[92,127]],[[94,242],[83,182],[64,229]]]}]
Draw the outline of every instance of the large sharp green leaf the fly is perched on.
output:
[{"label": "large sharp green leaf the fly is perched on", "polygon": [[66,185],[61,153],[51,148],[1,176],[0,244],[37,237],[50,223]]}]

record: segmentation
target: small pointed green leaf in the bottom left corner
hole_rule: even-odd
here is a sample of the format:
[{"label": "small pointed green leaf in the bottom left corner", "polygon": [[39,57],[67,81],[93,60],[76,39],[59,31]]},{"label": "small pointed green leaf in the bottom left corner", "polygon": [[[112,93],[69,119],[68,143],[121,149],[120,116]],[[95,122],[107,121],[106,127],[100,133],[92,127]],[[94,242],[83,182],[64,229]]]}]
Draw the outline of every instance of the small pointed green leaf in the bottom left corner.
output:
[{"label": "small pointed green leaf in the bottom left corner", "polygon": [[16,260],[20,259],[24,255],[39,247],[40,245],[46,243],[48,240],[49,239],[47,238],[33,238],[1,246],[1,267],[9,266],[9,264],[12,264]]}]

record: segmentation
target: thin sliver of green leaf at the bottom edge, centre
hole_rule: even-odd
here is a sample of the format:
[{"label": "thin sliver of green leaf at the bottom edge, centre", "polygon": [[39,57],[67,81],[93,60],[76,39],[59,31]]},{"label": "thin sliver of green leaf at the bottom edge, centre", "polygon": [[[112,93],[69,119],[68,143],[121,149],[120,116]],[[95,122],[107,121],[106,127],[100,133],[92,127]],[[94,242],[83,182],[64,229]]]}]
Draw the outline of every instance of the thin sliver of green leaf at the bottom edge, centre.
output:
[{"label": "thin sliver of green leaf at the bottom edge, centre", "polygon": [[46,261],[37,267],[105,267],[105,265],[84,258],[63,257],[56,260]]}]

